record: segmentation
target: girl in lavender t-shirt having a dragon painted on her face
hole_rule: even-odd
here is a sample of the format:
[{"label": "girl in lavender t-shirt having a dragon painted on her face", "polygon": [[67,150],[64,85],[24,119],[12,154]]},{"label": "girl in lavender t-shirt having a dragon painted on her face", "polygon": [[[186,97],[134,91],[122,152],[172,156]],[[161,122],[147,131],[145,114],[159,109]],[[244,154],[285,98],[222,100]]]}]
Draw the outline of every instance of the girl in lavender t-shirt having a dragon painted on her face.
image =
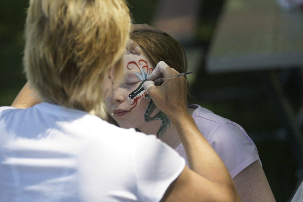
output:
[{"label": "girl in lavender t-shirt having a dragon painted on her face", "polygon": [[[175,149],[192,167],[192,162],[187,162],[190,152],[185,154],[185,151],[190,151],[188,148],[191,144],[183,145],[175,126],[169,124],[165,114],[159,112],[157,108],[151,109],[147,92],[139,92],[134,98],[131,96],[142,81],[154,71],[159,61],[164,61],[178,72],[185,72],[184,49],[178,41],[166,34],[139,31],[132,33],[131,39],[140,45],[142,53],[136,55],[128,52],[125,55],[125,80],[106,99],[107,110],[120,127],[136,128],[145,134],[161,134],[159,135],[161,140]],[[205,139],[224,162],[241,199],[275,201],[261,167],[257,148],[245,130],[235,122],[222,118],[197,104],[189,105],[188,112]],[[146,114],[148,114],[148,122],[145,121]],[[160,121],[151,121],[150,118]]]}]

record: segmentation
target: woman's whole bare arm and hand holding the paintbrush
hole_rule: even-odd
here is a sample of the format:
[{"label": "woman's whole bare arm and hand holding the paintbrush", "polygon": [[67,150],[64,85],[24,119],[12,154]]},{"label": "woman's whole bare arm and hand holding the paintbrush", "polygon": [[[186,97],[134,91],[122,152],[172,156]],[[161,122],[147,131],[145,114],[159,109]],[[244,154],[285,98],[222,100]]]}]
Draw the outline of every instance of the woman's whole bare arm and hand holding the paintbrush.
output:
[{"label": "woman's whole bare arm and hand holding the paintbrush", "polygon": [[[164,62],[159,62],[153,72],[148,80],[154,80],[161,74],[164,77],[178,74]],[[186,79],[173,78],[158,87],[153,81],[147,81],[144,88],[174,124],[193,170],[185,167],[166,191],[163,201],[239,201],[225,165],[187,112]]]}]

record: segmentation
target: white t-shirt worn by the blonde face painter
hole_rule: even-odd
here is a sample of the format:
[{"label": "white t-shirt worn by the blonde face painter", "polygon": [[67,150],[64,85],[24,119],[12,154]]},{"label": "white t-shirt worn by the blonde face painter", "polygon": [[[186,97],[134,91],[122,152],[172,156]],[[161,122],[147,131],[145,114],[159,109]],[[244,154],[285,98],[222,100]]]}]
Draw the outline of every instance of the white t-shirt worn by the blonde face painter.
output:
[{"label": "white t-shirt worn by the blonde face painter", "polygon": [[155,136],[41,103],[0,108],[0,201],[159,201],[185,161]]}]

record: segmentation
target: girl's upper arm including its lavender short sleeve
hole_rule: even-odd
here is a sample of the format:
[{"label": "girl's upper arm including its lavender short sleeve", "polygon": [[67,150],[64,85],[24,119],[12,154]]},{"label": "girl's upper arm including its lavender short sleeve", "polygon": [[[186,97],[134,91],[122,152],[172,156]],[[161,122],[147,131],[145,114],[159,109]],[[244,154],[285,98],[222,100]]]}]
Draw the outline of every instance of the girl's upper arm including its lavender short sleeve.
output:
[{"label": "girl's upper arm including its lavender short sleeve", "polygon": [[275,201],[257,148],[243,128],[231,122],[220,124],[209,141],[216,143],[213,148],[230,171],[241,200]]}]

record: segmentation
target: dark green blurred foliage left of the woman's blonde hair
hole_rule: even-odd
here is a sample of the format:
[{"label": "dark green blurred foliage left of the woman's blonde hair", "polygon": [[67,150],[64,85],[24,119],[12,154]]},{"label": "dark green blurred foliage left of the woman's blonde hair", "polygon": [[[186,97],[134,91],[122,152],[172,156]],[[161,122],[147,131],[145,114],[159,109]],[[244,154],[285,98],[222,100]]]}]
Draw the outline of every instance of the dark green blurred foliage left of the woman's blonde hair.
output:
[{"label": "dark green blurred foliage left of the woman's blonde hair", "polygon": [[0,1],[0,106],[10,105],[26,79],[22,70],[23,29],[28,1]]}]

